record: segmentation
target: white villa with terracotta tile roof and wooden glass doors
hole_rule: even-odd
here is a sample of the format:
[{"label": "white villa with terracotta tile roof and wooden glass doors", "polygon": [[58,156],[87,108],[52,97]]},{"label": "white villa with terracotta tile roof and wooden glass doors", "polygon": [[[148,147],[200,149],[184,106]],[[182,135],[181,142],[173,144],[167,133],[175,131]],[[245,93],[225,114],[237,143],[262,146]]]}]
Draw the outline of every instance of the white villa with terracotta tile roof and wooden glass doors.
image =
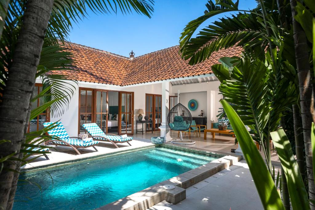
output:
[{"label": "white villa with terracotta tile roof and wooden glass doors", "polygon": [[[79,50],[77,48],[79,48]],[[74,84],[77,86],[77,89],[64,114],[58,117],[46,116],[46,121],[60,121],[64,124],[70,136],[77,136],[79,133],[82,133],[82,129],[80,128],[82,123],[98,121],[102,122],[102,127],[107,129],[110,126],[109,122],[112,120],[110,119],[111,115],[109,115],[111,114],[111,109],[117,110],[118,107],[118,116],[115,120],[117,120],[117,122],[126,121],[124,124],[122,122],[121,126],[120,123],[118,123],[118,134],[126,133],[128,135],[132,135],[136,132],[136,120],[138,119],[137,111],[138,109],[142,109],[145,112],[144,116],[150,115],[151,118],[152,116],[158,116],[158,119],[155,120],[155,123],[158,124],[158,127],[155,126],[155,131],[160,130],[160,135],[166,139],[170,139],[167,114],[169,108],[174,106],[174,104],[170,105],[170,96],[177,96],[178,91],[180,92],[180,103],[185,105],[187,108],[189,100],[195,99],[198,102],[198,108],[195,111],[191,111],[193,117],[198,117],[201,110],[203,110],[203,117],[206,117],[208,128],[211,128],[211,123],[217,122],[216,115],[218,114],[219,108],[221,108],[219,101],[222,98],[222,95],[220,94],[218,88],[220,82],[212,73],[211,65],[218,63],[218,60],[223,56],[232,57],[240,53],[239,49],[223,50],[222,52],[220,51],[218,54],[214,55],[213,58],[208,59],[198,66],[192,66],[192,68],[190,68],[188,61],[184,61],[180,58],[180,55],[178,54],[178,46],[175,46],[153,52],[151,54],[146,54],[144,56],[139,56],[140,59],[146,59],[146,61],[141,61],[141,63],[146,62],[146,65],[140,65],[140,67],[130,67],[130,64],[128,64],[129,66],[125,68],[127,69],[126,71],[129,71],[129,73],[124,73],[123,70],[120,71],[120,64],[117,67],[115,66],[115,63],[113,63],[116,62],[118,58],[121,59],[119,55],[74,43],[69,43],[69,50],[73,50],[75,53],[82,50],[80,51],[81,55],[74,54],[74,60],[77,60],[79,63],[75,73],[79,72],[80,74],[77,74],[77,77],[75,77],[69,73],[58,73],[69,75],[70,79],[77,80],[77,83],[69,80],[69,84]],[[83,52],[84,50],[87,50],[87,52]],[[114,59],[114,61],[109,62],[108,64],[100,64],[97,63],[98,61],[91,62],[89,61],[90,52],[97,53],[97,59],[102,59],[101,61],[108,59],[108,56],[112,56],[110,59]],[[84,56],[82,53],[84,53]],[[172,53],[172,55],[170,55],[170,53]],[[107,57],[99,57],[103,55]],[[93,56],[94,57],[92,57],[91,60],[95,60],[95,55]],[[85,59],[87,62],[85,62]],[[138,57],[133,58],[133,55],[130,58],[123,57],[123,59],[123,62],[125,62],[125,60],[126,62],[134,62],[135,64],[136,62],[140,62]],[[106,62],[107,61],[111,60],[106,60]],[[110,68],[114,67],[114,70],[107,71],[106,65],[110,66]],[[137,69],[133,70],[132,68]],[[110,72],[108,77],[105,71]],[[187,73],[183,74],[183,72]],[[100,73],[100,76],[96,75],[97,73]],[[89,82],[91,79],[86,79],[91,78],[91,75],[93,76],[94,82]],[[137,81],[134,82],[134,84],[132,84],[133,82],[129,82],[122,83],[120,85],[113,84],[113,82],[104,82],[104,78],[107,79],[109,77],[111,77],[111,80],[114,81],[115,77],[117,77],[117,80],[120,81],[130,80],[130,77],[133,77],[133,80]],[[140,77],[141,79],[138,81],[138,78]],[[142,78],[145,79],[143,80]],[[37,79],[37,83],[41,83],[40,79]],[[108,94],[112,91],[113,93],[118,92],[118,104],[116,102],[115,106],[110,108],[110,101],[112,101],[112,99],[109,98]],[[101,95],[103,97],[102,99],[100,99]],[[148,95],[151,95],[152,99],[157,97],[157,101],[148,102]],[[86,102],[86,104],[84,104],[84,102],[81,101],[81,97],[90,98],[89,100],[91,103]],[[126,97],[128,98],[129,103],[127,102]],[[117,101],[117,99],[115,100]],[[172,100],[177,101],[177,99]],[[147,113],[149,104],[154,102],[155,105],[158,106],[157,113],[154,111]],[[126,106],[124,106],[124,103],[127,103]],[[83,105],[86,106],[83,108],[85,111],[82,111]],[[88,105],[91,106],[89,111],[87,111]],[[154,105],[151,105],[150,109],[152,109],[153,106]],[[102,107],[103,111],[99,111],[100,107]],[[129,111],[126,111],[126,109]],[[128,118],[129,120],[125,120],[124,118]],[[126,126],[126,124],[128,125],[128,129],[127,127],[123,127]],[[154,119],[152,119],[152,124],[154,124]],[[141,126],[142,124],[138,124],[138,130],[142,129]],[[40,127],[40,125],[37,125],[37,128],[38,127]]]}]

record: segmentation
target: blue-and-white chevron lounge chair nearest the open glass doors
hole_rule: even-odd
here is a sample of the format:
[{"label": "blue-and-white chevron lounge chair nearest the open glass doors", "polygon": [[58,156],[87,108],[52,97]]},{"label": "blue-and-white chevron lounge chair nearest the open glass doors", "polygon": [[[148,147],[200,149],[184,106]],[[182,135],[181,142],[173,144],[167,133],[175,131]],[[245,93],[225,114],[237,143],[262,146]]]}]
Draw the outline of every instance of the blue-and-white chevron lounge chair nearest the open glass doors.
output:
[{"label": "blue-and-white chevron lounge chair nearest the open glass doors", "polygon": [[118,148],[118,146],[116,145],[116,143],[127,142],[131,146],[129,141],[131,141],[133,139],[132,137],[127,137],[127,135],[126,136],[118,136],[118,135],[112,134],[112,133],[106,134],[102,131],[102,129],[100,129],[100,127],[98,127],[98,125],[96,123],[86,123],[86,124],[83,124],[82,126],[83,126],[83,128],[85,128],[89,132],[89,134],[91,135],[91,137],[93,139],[97,139],[98,141],[111,142],[117,148]]}]

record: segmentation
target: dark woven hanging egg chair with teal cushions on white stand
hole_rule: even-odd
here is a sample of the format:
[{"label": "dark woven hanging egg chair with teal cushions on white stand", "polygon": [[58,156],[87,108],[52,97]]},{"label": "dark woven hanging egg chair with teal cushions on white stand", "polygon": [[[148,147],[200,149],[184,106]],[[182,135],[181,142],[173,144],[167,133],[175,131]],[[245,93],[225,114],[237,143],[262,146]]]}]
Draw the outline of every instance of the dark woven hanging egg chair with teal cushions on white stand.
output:
[{"label": "dark woven hanging egg chair with teal cushions on white stand", "polygon": [[195,141],[183,140],[181,134],[182,131],[189,130],[192,125],[192,114],[184,105],[181,103],[175,105],[167,115],[167,122],[171,130],[180,132],[180,140],[172,140],[173,144],[195,144]]}]

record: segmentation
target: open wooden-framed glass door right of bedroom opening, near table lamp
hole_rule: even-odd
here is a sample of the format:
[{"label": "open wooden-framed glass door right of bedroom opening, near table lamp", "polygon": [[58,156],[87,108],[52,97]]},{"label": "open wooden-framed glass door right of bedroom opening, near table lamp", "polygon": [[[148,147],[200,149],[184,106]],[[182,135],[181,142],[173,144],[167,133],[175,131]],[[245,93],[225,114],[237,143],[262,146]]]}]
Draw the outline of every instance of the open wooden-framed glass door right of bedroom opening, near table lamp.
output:
[{"label": "open wooden-framed glass door right of bedroom opening, near table lamp", "polygon": [[[134,93],[119,92],[119,134],[133,135],[134,133]],[[119,123],[120,122],[120,123]]]}]

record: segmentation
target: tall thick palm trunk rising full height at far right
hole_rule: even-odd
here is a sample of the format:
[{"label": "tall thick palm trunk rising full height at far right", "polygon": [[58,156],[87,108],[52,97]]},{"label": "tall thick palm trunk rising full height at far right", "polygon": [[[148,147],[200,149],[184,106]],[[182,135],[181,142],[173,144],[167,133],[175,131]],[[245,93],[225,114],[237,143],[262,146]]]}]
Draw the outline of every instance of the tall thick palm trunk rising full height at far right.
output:
[{"label": "tall thick palm trunk rising full height at far right", "polygon": [[[295,20],[296,0],[290,0],[292,10],[293,38],[295,44],[295,60],[297,76],[299,79],[300,105],[303,125],[303,136],[306,156],[306,169],[308,179],[308,193],[311,200],[315,200],[315,185],[312,166],[312,146],[311,146],[311,123],[314,121],[314,99],[312,97],[311,71],[309,65],[309,55],[307,51],[307,40],[301,25]],[[314,203],[310,202],[311,209],[315,209]]]}]

